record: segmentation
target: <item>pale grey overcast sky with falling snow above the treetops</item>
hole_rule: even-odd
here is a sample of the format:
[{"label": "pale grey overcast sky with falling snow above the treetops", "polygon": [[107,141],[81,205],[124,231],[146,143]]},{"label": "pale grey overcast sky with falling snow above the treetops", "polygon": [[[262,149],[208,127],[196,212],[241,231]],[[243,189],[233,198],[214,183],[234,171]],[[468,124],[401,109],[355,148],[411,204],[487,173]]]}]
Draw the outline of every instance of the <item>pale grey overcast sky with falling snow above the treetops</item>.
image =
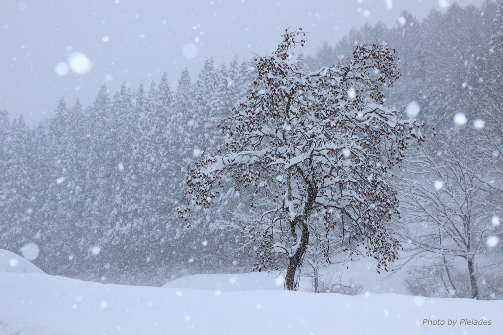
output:
[{"label": "pale grey overcast sky with falling snow above the treetops", "polygon": [[[460,0],[460,6],[481,0]],[[308,32],[305,54],[335,44],[352,27],[396,25],[403,10],[418,19],[447,0],[0,0],[0,110],[29,126],[53,113],[64,96],[92,104],[106,83],[146,87],[166,72],[176,86],[204,60],[229,63],[275,49],[286,27]]]}]

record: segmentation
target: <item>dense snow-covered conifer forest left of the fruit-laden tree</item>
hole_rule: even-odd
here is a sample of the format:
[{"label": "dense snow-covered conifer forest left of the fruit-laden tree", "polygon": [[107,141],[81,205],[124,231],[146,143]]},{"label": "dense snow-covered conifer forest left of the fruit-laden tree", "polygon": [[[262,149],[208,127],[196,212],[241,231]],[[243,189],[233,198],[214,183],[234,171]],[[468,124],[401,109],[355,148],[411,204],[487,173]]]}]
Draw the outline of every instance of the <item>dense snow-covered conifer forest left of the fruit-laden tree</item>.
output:
[{"label": "dense snow-covered conifer forest left of the fruit-laden tree", "polygon": [[176,208],[187,166],[222,141],[216,124],[246,92],[249,71],[246,61],[217,68],[208,59],[195,83],[184,70],[173,92],[165,74],[113,97],[103,85],[92,106],[61,98],[33,130],[2,112],[0,248],[33,242],[46,272],[96,280],[145,273],[130,282],[161,283],[232,266],[235,237],[194,236]]}]

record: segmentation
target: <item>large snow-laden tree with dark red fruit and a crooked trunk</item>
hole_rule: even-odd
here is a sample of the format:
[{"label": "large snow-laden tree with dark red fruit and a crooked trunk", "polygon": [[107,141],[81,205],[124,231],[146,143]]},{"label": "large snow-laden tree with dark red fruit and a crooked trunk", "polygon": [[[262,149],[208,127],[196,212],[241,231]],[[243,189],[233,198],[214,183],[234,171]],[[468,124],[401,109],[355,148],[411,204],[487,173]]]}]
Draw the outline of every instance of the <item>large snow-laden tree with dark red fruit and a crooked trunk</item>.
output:
[{"label": "large snow-laden tree with dark red fruit and a crooked trunk", "polygon": [[386,225],[398,207],[388,170],[409,140],[423,141],[420,125],[382,105],[382,88],[399,76],[393,50],[358,45],[345,63],[304,73],[291,62],[303,38],[287,30],[273,55],[256,59],[253,88],[219,126],[225,145],[190,169],[188,204],[180,208],[188,219],[192,207],[208,207],[225,174],[236,192],[249,188],[250,207],[261,211],[242,225],[254,270],[286,266],[289,290],[315,232],[329,236],[339,226],[345,251],[365,248],[378,271],[389,269],[399,244]]}]

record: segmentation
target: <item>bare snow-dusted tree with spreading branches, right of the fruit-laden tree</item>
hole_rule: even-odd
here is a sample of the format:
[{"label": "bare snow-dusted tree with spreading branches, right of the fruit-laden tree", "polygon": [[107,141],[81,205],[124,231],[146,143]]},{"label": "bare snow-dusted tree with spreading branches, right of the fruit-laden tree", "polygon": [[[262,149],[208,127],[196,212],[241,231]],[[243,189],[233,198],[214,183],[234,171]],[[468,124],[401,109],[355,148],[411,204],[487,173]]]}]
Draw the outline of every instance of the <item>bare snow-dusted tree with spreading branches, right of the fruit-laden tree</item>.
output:
[{"label": "bare snow-dusted tree with spreading branches, right of the fruit-laden tree", "polygon": [[410,175],[400,178],[403,238],[413,246],[410,257],[428,260],[412,271],[412,287],[428,281],[415,277],[426,267],[438,284],[412,293],[478,299],[484,276],[501,263],[494,259],[501,209],[487,192],[488,158],[471,139],[456,142],[456,148],[437,143],[407,159]]}]

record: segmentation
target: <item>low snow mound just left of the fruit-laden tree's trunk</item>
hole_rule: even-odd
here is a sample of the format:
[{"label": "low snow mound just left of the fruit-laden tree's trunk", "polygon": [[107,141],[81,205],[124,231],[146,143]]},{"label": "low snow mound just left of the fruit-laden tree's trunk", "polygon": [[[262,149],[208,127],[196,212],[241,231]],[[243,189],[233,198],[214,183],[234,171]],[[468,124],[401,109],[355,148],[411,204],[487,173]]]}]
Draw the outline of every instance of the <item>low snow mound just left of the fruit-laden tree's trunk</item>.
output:
[{"label": "low snow mound just left of the fruit-laden tree's trunk", "polygon": [[162,287],[197,288],[201,290],[220,290],[223,292],[284,290],[284,279],[278,276],[278,273],[267,272],[192,275],[173,280]]}]

